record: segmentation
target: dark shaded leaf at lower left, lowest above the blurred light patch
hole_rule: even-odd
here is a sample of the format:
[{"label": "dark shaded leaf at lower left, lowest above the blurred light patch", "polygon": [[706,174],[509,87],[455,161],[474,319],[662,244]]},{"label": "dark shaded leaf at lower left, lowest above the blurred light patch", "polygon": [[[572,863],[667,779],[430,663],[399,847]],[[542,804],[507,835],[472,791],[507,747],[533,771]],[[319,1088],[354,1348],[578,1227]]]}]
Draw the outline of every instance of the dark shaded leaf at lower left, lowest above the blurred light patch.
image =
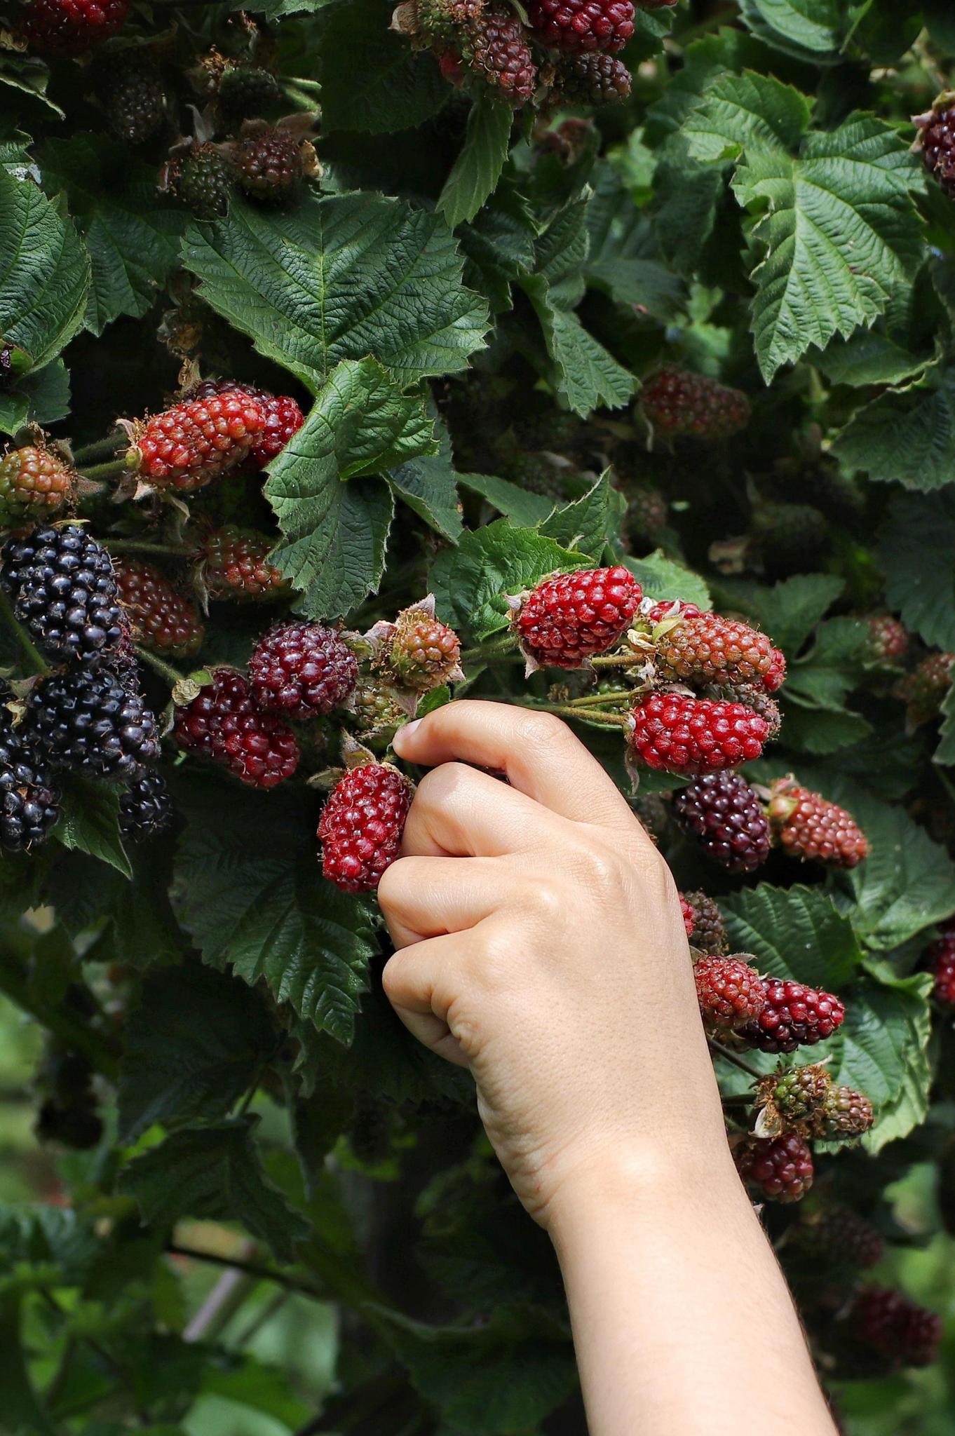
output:
[{"label": "dark shaded leaf at lower left, lowest above the blurred light patch", "polygon": [[118,1188],[144,1221],[174,1226],[182,1216],[240,1222],[280,1261],[296,1259],[309,1223],[266,1176],[251,1140],[256,1119],[204,1123],[172,1133],[122,1169]]}]

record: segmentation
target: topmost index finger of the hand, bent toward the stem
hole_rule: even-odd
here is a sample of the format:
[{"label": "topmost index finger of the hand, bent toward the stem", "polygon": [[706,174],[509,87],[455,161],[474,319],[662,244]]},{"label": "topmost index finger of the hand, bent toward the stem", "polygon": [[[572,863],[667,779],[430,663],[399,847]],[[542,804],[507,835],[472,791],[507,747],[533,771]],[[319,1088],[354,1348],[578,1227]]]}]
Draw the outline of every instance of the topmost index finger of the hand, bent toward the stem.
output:
[{"label": "topmost index finger of the hand, bent toward the stem", "polygon": [[616,784],[551,714],[465,698],[399,728],[395,752],[424,767],[460,758],[498,768],[553,813],[577,823],[635,827]]}]

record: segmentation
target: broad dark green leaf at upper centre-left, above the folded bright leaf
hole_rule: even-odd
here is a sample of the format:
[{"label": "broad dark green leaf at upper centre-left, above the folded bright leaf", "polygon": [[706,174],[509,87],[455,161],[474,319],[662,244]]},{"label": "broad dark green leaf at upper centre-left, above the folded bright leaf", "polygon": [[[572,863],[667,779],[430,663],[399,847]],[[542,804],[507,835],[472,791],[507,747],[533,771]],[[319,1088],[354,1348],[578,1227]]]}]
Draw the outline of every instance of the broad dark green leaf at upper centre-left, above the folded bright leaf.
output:
[{"label": "broad dark green leaf at upper centre-left, above the folded bright leaf", "polygon": [[414,383],[457,373],[484,346],[487,306],[462,286],[454,236],[402,200],[233,201],[227,218],[187,230],[182,263],[213,309],[315,392],[342,359],[372,355]]}]

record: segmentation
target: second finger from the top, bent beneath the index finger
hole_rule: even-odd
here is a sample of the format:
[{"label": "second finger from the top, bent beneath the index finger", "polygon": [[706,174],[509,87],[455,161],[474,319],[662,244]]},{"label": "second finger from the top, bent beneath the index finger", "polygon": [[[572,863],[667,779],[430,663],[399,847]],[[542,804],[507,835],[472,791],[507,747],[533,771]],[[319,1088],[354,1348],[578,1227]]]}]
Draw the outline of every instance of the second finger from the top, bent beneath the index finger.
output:
[{"label": "second finger from the top, bent beneath the index finger", "polygon": [[418,784],[405,823],[405,857],[494,857],[546,852],[560,820],[464,763],[442,763]]}]

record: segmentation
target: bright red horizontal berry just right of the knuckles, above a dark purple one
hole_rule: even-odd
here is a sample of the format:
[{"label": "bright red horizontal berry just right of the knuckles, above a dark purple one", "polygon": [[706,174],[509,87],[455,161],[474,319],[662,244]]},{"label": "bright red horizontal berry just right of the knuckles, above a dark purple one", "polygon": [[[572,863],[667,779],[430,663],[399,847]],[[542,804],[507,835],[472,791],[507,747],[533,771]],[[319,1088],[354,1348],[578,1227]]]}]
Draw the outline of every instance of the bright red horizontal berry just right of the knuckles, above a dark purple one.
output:
[{"label": "bright red horizontal berry just right of the knuckles, above a dark purple one", "polygon": [[688,775],[758,758],[770,727],[742,704],[651,694],[633,709],[630,742],[648,768]]}]

